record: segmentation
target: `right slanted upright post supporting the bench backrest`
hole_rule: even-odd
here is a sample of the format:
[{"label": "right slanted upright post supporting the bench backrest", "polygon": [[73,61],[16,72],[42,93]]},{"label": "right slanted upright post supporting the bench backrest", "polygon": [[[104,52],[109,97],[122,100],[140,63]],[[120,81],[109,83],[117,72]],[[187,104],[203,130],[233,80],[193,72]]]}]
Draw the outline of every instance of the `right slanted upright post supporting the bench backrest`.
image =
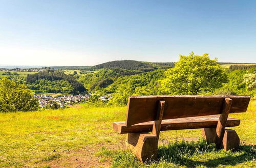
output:
[{"label": "right slanted upright post supporting the bench backrest", "polygon": [[230,98],[225,98],[223,107],[222,107],[222,113],[217,124],[216,135],[214,139],[217,148],[221,148],[221,143],[224,136],[224,130],[226,127],[226,122],[227,122],[229,111],[231,109],[231,105],[232,105],[232,100]]}]

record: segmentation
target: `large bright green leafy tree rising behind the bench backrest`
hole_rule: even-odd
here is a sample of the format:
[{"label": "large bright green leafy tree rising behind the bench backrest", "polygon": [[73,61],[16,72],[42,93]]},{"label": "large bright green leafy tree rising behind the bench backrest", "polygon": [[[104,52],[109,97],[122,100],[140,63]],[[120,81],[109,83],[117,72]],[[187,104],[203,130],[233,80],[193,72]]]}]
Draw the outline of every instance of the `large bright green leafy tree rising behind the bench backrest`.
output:
[{"label": "large bright green leafy tree rising behind the bench backrest", "polygon": [[165,76],[161,81],[163,94],[211,93],[227,81],[227,75],[217,59],[210,60],[207,53],[202,56],[194,52],[188,56],[180,55],[175,67],[166,70]]}]

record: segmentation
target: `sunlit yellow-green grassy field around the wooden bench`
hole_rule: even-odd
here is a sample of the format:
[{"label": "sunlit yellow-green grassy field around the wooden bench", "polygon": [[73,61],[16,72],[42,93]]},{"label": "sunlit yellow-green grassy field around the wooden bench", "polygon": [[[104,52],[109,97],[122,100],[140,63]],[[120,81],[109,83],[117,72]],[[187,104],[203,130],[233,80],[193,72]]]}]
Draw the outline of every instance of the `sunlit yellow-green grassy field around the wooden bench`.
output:
[{"label": "sunlit yellow-green grassy field around the wooden bench", "polygon": [[[163,131],[159,163],[141,164],[125,150],[125,135],[112,122],[125,120],[126,107],[89,107],[0,114],[0,167],[253,167],[256,166],[256,100],[233,127],[242,146],[238,152],[216,150],[198,141],[201,130]],[[184,140],[182,142],[182,140]],[[186,142],[188,141],[188,142]],[[195,143],[189,143],[195,141]],[[164,160],[165,159],[165,160]]]}]

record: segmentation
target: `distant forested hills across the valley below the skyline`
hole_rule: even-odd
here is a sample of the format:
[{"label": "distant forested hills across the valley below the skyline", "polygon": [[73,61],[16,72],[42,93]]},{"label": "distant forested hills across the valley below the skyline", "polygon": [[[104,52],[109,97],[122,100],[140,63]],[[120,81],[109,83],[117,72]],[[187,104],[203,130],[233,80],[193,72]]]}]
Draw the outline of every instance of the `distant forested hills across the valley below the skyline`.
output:
[{"label": "distant forested hills across the valley below the skyline", "polygon": [[[229,82],[216,90],[215,94],[249,94],[244,75],[255,73],[256,65],[247,63],[225,66]],[[151,63],[133,60],[112,61],[96,66],[48,67],[44,71],[32,72],[2,71],[0,77],[7,77],[19,83],[25,83],[34,93],[62,93],[96,95],[116,95],[123,101],[127,95],[161,94],[157,92],[159,81],[168,68],[175,63]],[[229,68],[229,69],[227,69]],[[71,71],[67,71],[71,70]],[[26,76],[28,74],[28,76]],[[26,76],[26,77],[25,77]],[[236,83],[236,84],[234,84]],[[118,95],[118,96],[117,96]],[[126,100],[125,100],[126,101]],[[125,104],[125,102],[123,102]]]}]

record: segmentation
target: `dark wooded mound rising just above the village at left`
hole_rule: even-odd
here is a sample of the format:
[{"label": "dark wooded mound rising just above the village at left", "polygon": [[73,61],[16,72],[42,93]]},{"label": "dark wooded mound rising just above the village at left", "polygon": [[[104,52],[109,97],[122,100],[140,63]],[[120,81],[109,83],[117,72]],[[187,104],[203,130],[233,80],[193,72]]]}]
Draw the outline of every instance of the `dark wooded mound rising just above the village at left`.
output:
[{"label": "dark wooded mound rising just above the village at left", "polygon": [[[44,79],[44,80],[41,80],[41,79]],[[55,82],[51,84],[51,82],[49,81],[55,81]],[[72,86],[73,89],[65,81],[69,82],[70,86]],[[72,75],[67,75],[63,72],[56,71],[53,69],[46,69],[44,71],[41,71],[35,74],[28,74],[27,82],[30,84],[30,88],[33,90],[39,89],[44,92],[49,91],[50,93],[57,93],[58,91],[60,91],[60,93],[70,93],[70,94],[76,95],[86,91],[83,85],[80,82],[78,82]],[[36,86],[37,83],[40,83],[40,82],[41,82],[41,85]],[[62,86],[59,86],[59,84],[60,85],[63,84],[64,88],[61,89],[60,87]],[[33,87],[33,85],[35,87]]]}]

